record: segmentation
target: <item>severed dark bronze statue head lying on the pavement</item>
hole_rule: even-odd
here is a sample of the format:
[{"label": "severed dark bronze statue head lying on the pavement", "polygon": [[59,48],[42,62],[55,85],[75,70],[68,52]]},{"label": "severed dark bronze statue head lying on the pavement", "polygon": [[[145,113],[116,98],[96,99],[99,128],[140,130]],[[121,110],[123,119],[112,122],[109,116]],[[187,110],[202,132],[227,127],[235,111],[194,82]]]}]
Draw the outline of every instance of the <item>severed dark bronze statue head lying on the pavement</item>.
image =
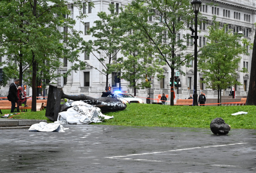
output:
[{"label": "severed dark bronze statue head lying on the pavement", "polygon": [[228,134],[230,131],[230,125],[226,124],[222,118],[215,118],[210,124],[210,129],[214,134]]}]

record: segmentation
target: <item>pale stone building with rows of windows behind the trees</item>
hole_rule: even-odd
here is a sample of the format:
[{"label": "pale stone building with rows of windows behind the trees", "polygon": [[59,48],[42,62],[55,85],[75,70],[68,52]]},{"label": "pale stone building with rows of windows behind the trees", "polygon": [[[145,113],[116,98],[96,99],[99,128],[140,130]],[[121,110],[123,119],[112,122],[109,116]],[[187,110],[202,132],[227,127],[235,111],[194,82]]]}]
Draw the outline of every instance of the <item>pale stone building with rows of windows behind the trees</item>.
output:
[{"label": "pale stone building with rows of windows behind the trees", "polygon": [[[82,22],[77,21],[74,29],[83,31],[84,40],[93,39],[90,35],[86,34],[86,30],[90,28],[90,26],[94,25],[94,21],[98,20],[97,13],[100,11],[108,12],[108,4],[113,3],[116,7],[126,6],[130,0],[92,0],[94,2],[95,8],[84,8],[84,13],[88,15],[86,19]],[[208,3],[215,3],[218,6],[210,6]],[[71,17],[77,16],[78,12],[72,6],[70,6],[70,10],[72,11]],[[201,30],[201,33],[198,33],[198,46],[203,47],[206,44],[206,38],[204,35],[208,34],[207,26],[210,25],[212,16],[217,16],[217,21],[221,22],[221,24],[228,24],[229,29],[232,29],[234,32],[242,31],[244,33],[244,37],[249,39],[253,42],[254,35],[255,35],[255,26],[254,23],[256,22],[256,2],[255,0],[203,0],[202,6],[200,8],[203,16],[207,17],[207,23],[198,26],[198,29]],[[154,20],[154,19],[153,19]],[[189,27],[189,25],[188,25]],[[59,28],[60,31],[64,31],[67,28]],[[182,36],[183,34],[191,33],[191,31],[184,30],[178,34]],[[193,50],[194,45],[188,43],[188,49]],[[233,86],[234,90],[236,90],[236,96],[246,96],[248,93],[248,85],[250,79],[250,68],[251,68],[251,58],[252,58],[252,50],[248,49],[250,56],[242,55],[242,60],[240,62],[241,68],[245,67],[248,69],[249,73],[237,73],[237,80],[242,83],[242,86]],[[121,56],[121,54],[117,54]],[[97,68],[101,68],[100,63],[91,55],[86,55],[86,53],[80,54],[80,59],[83,61],[87,61],[89,65],[92,65]],[[64,59],[64,67],[56,71],[56,73],[66,73],[66,71],[72,66],[72,63],[65,61]],[[193,94],[193,86],[194,86],[194,62],[191,61],[190,65],[192,67],[182,67],[182,71],[186,74],[185,76],[180,76],[182,85],[179,88],[179,98],[185,99],[188,98],[190,94]],[[164,78],[160,81],[156,79],[152,79],[153,84],[150,90],[151,96],[156,94],[170,94],[170,68],[165,65],[162,67],[164,69]],[[119,88],[119,83],[115,83],[114,76],[116,73],[113,73],[112,77],[109,80],[109,85],[112,86],[112,90],[116,90]],[[217,98],[218,94],[216,90],[212,90],[206,88],[206,86],[200,83],[202,79],[202,74],[198,72],[197,74],[198,79],[198,87],[197,91],[198,94],[202,90],[207,98]],[[11,83],[12,81],[10,81]],[[59,86],[63,87],[63,90],[66,94],[86,94],[93,97],[100,97],[101,92],[104,90],[106,85],[106,77],[102,75],[99,71],[90,68],[89,66],[86,70],[72,72],[72,75],[63,78],[59,77],[56,79],[56,82]],[[123,91],[128,91],[133,93],[133,89],[128,87],[128,81],[121,80],[121,88]],[[8,91],[8,90],[7,90]],[[177,93],[177,89],[175,89]],[[32,93],[32,92],[31,92]],[[144,102],[146,102],[146,97],[149,94],[149,89],[140,89],[137,92],[137,96],[142,97]],[[225,92],[222,92],[222,95],[230,94],[230,89],[226,89]],[[152,98],[152,97],[151,97]],[[169,100],[170,98],[168,98]],[[176,96],[177,99],[177,96]],[[176,100],[174,100],[176,102]]]}]

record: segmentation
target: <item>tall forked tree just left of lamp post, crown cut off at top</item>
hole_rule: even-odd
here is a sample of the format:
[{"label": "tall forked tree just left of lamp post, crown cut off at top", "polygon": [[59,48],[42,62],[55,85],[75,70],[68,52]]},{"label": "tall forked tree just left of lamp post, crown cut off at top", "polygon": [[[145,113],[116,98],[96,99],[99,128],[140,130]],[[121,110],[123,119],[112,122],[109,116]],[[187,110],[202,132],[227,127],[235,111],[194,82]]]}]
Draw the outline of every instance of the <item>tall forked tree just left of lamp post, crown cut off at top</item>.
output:
[{"label": "tall forked tree just left of lamp post, crown cut off at top", "polygon": [[[181,71],[192,56],[187,51],[186,41],[189,35],[177,34],[186,30],[186,23],[194,17],[189,0],[135,0],[124,10],[124,20],[130,21],[134,30],[140,30],[141,35],[153,46],[158,61],[163,61],[171,69],[174,91],[174,70]],[[198,18],[201,18],[199,14]],[[152,22],[149,20],[153,19]],[[174,92],[171,92],[171,105],[174,105]]]}]

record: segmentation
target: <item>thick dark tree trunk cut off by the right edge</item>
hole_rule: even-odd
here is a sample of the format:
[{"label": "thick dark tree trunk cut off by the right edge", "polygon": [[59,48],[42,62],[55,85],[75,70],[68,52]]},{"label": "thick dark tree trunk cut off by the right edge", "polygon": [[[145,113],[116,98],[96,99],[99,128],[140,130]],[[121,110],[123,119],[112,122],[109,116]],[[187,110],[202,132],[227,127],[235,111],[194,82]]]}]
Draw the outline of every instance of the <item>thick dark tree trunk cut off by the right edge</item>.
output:
[{"label": "thick dark tree trunk cut off by the right edge", "polygon": [[245,105],[256,105],[256,34],[254,35],[254,43],[252,49],[252,63],[250,73],[249,90]]}]

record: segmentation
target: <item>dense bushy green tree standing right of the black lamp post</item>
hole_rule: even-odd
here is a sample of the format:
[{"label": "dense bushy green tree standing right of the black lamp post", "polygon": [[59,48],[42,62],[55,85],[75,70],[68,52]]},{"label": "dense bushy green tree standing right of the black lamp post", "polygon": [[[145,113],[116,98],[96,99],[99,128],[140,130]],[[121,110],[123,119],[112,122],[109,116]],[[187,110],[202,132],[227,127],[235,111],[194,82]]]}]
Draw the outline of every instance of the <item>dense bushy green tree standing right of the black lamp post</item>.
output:
[{"label": "dense bushy green tree standing right of the black lamp post", "polygon": [[[227,30],[227,25],[220,28],[219,22],[216,22],[216,16],[213,18],[213,24],[208,27],[209,35],[205,35],[207,43],[205,47],[200,49],[201,53],[198,56],[198,70],[203,74],[206,88],[218,90],[218,103],[221,102],[221,90],[232,85],[242,85],[236,81],[236,69],[238,69],[241,61],[241,54],[246,54],[248,41],[242,39],[242,35],[231,33]],[[241,44],[242,43],[242,44]],[[240,72],[246,72],[243,68]]]}]

